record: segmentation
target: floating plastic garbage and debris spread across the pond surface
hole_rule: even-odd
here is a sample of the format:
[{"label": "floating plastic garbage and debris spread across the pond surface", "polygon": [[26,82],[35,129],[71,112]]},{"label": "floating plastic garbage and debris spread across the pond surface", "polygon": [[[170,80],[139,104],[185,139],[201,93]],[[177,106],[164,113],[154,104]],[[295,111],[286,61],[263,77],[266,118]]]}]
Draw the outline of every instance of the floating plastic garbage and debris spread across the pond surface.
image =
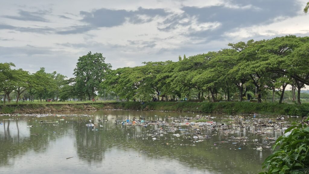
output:
[{"label": "floating plastic garbage and debris spread across the pond surface", "polygon": [[[4,114],[0,114],[0,116],[3,115]],[[134,138],[134,139],[139,138],[141,141],[147,141],[150,140],[151,138],[154,141],[160,137],[159,138],[160,141],[155,141],[154,143],[158,142],[164,145],[171,146],[173,148],[175,148],[176,146],[204,146],[205,143],[203,141],[207,141],[208,144],[213,145],[213,147],[211,148],[219,149],[228,147],[230,149],[240,150],[242,149],[241,147],[243,147],[245,151],[248,150],[263,151],[263,149],[264,151],[266,151],[270,149],[271,145],[274,144],[277,139],[277,137],[274,137],[275,136],[274,132],[281,132],[283,134],[284,130],[290,127],[289,118],[292,117],[292,116],[278,116],[276,118],[276,117],[267,117],[260,114],[258,115],[247,114],[247,115],[236,115],[236,116],[224,115],[221,117],[220,116],[211,117],[202,115],[201,116],[196,115],[196,117],[188,117],[188,116],[170,117],[168,115],[168,117],[166,116],[164,118],[157,116],[155,117],[154,120],[147,120],[145,119],[146,117],[141,116],[139,119],[133,118],[129,122],[127,122],[129,120],[127,119],[127,116],[121,116],[124,117],[123,119],[110,121],[110,119],[115,118],[108,117],[108,120],[106,118],[104,120],[100,118],[100,116],[98,117],[98,116],[79,115],[79,114],[70,114],[70,115],[24,114],[24,115],[33,117],[32,118],[33,122],[40,123],[39,125],[35,125],[35,127],[39,126],[44,127],[53,125],[57,126],[57,128],[59,127],[59,129],[56,130],[60,130],[62,129],[61,126],[66,126],[61,123],[64,123],[64,121],[66,121],[66,123],[79,122],[82,123],[81,125],[83,125],[83,123],[86,123],[86,126],[92,127],[91,129],[92,131],[98,131],[104,129],[107,130],[106,128],[110,129],[109,125],[104,124],[116,123],[116,126],[113,125],[111,129],[117,127],[117,129],[134,130],[134,133],[129,132],[131,136],[129,136],[130,134],[128,134],[128,132],[124,131],[124,135],[128,134],[128,136],[126,136],[127,138]],[[56,119],[48,119],[47,116],[53,116],[56,117]],[[254,116],[256,117],[254,118]],[[62,119],[58,120],[58,117],[60,118],[62,117]],[[90,120],[89,117],[91,117]],[[153,117],[148,118],[153,119]],[[4,120],[12,120],[12,119],[11,118],[3,119],[3,121]],[[205,121],[199,122],[201,120]],[[88,121],[90,122],[90,124],[87,124],[89,123]],[[3,123],[5,122],[1,121],[0,124]],[[35,124],[35,123],[29,122],[28,124]],[[33,127],[33,125],[29,125],[27,127]],[[104,127],[104,129],[102,127]],[[44,130],[47,130],[46,127],[44,128],[45,128]],[[136,131],[137,129],[140,132]],[[53,133],[56,133],[56,131],[53,131]],[[95,134],[98,135],[100,133],[104,132],[103,131],[96,132]],[[290,133],[286,133],[285,135],[288,136],[288,134]],[[217,140],[218,142],[216,142],[214,140],[216,140],[217,138],[214,139],[212,138],[217,137],[218,135],[220,136],[220,140],[219,141]],[[241,135],[243,135],[243,137]],[[252,145],[255,148],[252,148]]]}]

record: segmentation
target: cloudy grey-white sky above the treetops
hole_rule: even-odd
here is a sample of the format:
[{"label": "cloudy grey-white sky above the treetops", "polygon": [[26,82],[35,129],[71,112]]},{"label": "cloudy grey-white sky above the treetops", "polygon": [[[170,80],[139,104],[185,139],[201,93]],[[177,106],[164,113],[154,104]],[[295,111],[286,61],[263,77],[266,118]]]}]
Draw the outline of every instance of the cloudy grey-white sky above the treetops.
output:
[{"label": "cloudy grey-white sky above the treetops", "polygon": [[309,36],[307,0],[10,0],[0,2],[0,62],[68,77],[78,57],[113,69],[178,61],[228,43]]}]

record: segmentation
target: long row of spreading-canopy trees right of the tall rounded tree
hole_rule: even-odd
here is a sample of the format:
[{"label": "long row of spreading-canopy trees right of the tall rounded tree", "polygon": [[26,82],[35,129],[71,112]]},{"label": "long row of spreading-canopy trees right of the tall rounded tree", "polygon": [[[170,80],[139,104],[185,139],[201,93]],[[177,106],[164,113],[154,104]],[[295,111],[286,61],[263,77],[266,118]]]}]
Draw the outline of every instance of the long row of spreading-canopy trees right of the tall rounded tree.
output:
[{"label": "long row of spreading-canopy trees right of the tall rounded tree", "polygon": [[[214,102],[224,93],[227,101],[239,101],[247,94],[258,102],[269,90],[280,93],[281,103],[287,85],[300,104],[300,91],[309,85],[309,37],[284,36],[271,40],[230,43],[228,49],[179,57],[178,62],[144,62],[144,66],[124,67],[106,74],[102,88],[120,99],[151,100],[153,95],[171,98],[204,99]],[[207,95],[205,95],[207,93]],[[216,97],[217,96],[217,97]]]}]

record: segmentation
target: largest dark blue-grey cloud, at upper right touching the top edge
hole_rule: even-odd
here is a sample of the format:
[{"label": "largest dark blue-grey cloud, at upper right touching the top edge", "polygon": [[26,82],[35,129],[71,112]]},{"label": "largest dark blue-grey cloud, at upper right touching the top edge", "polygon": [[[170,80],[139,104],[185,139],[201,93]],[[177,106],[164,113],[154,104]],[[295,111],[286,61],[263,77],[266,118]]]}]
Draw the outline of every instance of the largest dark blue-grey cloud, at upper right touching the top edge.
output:
[{"label": "largest dark blue-grey cloud, at upper right touching the top edge", "polygon": [[[225,5],[192,7],[184,6],[181,15],[174,15],[167,18],[163,23],[159,24],[160,31],[171,31],[179,25],[193,25],[193,23],[180,23],[181,19],[187,17],[195,17],[197,23],[221,23],[221,26],[215,29],[203,31],[194,31],[187,33],[193,38],[220,38],[225,32],[233,31],[237,28],[250,27],[254,25],[263,25],[273,23],[276,18],[289,18],[298,15],[301,9],[300,5],[290,0],[232,0],[230,4],[234,4],[239,8],[230,8]],[[244,8],[242,8],[244,7]]]}]

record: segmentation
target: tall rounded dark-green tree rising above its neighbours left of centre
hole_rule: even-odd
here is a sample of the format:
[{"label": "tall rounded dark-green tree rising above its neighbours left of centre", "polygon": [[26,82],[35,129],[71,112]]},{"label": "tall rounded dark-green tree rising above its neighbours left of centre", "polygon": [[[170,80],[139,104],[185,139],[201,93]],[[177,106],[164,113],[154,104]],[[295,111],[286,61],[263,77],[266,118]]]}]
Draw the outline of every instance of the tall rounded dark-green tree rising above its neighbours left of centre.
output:
[{"label": "tall rounded dark-green tree rising above its neighbours left of centre", "polygon": [[73,74],[76,76],[78,88],[88,95],[88,100],[93,98],[111,68],[111,64],[105,63],[102,53],[92,54],[90,51],[87,55],[79,57]]}]

